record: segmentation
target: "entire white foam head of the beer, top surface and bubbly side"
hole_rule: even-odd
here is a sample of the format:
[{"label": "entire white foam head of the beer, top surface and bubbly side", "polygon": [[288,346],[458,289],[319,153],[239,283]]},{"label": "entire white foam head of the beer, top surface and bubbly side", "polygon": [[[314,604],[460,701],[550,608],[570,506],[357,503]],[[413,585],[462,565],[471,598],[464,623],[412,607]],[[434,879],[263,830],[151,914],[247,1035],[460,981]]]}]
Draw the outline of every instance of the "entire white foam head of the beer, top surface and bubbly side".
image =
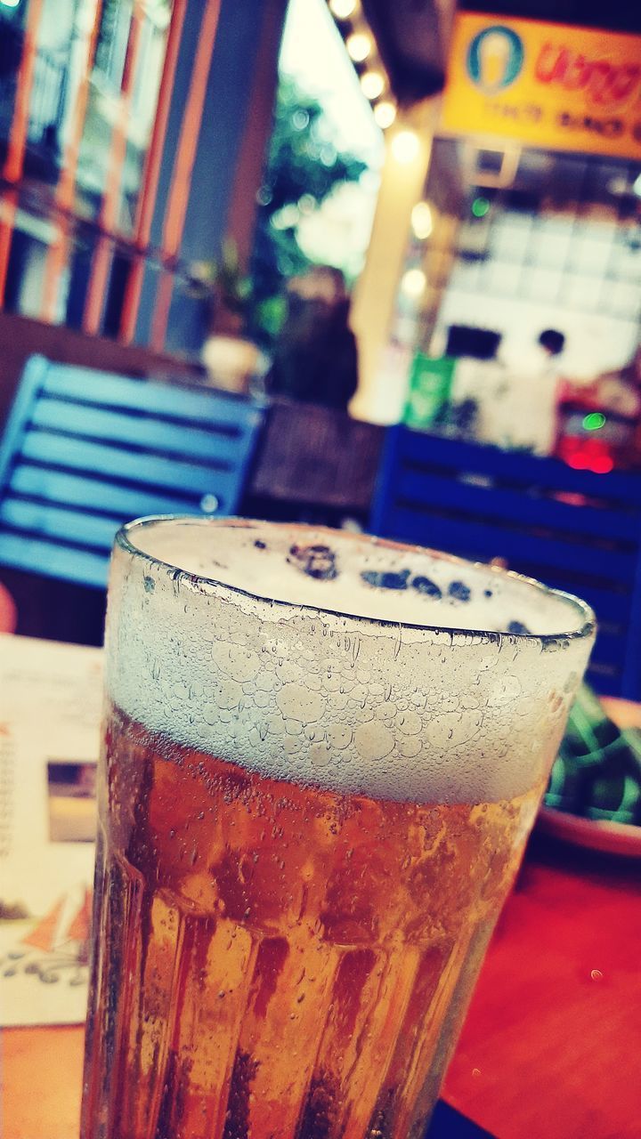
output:
[{"label": "entire white foam head of the beer, top surface and bubbly side", "polygon": [[490,802],[544,778],[591,647],[578,603],[338,531],[162,521],[128,535],[144,556],[114,557],[107,687],[149,730],[400,801]]}]

